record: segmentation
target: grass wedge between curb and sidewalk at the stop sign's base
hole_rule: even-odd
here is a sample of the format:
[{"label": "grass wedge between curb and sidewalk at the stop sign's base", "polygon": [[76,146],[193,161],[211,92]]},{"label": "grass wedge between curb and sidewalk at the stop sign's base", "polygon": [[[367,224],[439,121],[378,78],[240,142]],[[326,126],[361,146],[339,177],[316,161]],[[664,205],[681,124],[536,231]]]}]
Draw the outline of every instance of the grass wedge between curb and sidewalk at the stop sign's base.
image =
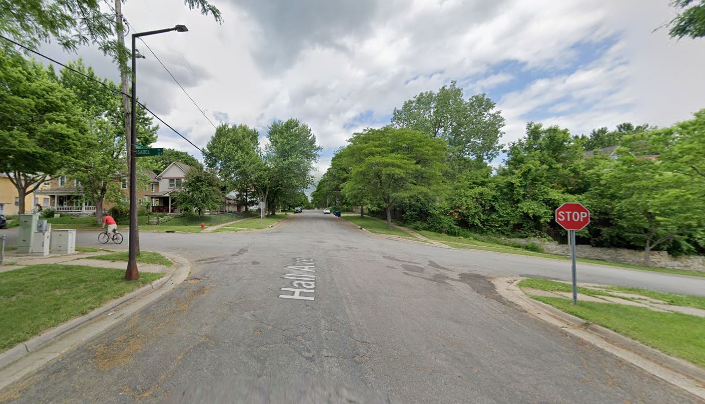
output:
[{"label": "grass wedge between curb and sidewalk at the stop sign's base", "polygon": [[644,307],[534,296],[535,300],[705,367],[705,318]]}]

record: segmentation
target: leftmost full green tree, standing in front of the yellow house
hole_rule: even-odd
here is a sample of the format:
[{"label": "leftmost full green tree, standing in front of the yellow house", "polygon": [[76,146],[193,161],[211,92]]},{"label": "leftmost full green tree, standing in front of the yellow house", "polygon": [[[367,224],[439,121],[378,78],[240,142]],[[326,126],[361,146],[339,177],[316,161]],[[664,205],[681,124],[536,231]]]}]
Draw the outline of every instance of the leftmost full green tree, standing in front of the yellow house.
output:
[{"label": "leftmost full green tree, standing in front of the yellow house", "polygon": [[73,93],[41,64],[0,52],[0,171],[17,188],[20,214],[25,195],[80,157],[85,128]]}]

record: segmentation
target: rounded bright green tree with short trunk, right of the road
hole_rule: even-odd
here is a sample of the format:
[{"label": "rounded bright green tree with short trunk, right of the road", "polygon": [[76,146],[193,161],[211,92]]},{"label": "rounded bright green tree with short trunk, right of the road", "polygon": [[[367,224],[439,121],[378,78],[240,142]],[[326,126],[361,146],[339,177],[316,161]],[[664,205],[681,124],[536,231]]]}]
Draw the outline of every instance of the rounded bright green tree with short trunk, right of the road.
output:
[{"label": "rounded bright green tree with short trunk, right of the road", "polygon": [[391,208],[413,195],[441,188],[446,147],[443,140],[417,130],[367,129],[355,133],[343,150],[350,175],[343,192],[350,200],[369,200],[382,207],[391,228]]}]

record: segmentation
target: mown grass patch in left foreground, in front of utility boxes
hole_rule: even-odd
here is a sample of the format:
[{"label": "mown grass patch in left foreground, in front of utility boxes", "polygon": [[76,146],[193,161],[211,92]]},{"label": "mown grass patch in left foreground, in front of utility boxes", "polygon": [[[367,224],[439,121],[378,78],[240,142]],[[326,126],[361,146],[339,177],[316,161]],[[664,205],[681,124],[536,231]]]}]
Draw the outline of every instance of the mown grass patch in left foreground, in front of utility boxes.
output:
[{"label": "mown grass patch in left foreground, in front of utility boxes", "polygon": [[0,351],[164,276],[143,272],[125,281],[122,269],[30,265],[0,273]]}]

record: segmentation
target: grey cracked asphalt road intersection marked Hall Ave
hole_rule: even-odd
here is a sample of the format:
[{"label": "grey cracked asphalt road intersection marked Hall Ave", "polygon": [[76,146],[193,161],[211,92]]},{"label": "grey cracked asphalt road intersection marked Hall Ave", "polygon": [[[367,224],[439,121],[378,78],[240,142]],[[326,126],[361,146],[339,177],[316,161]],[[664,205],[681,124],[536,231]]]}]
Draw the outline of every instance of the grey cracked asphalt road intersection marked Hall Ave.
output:
[{"label": "grey cracked asphalt road intersection marked Hall Ave", "polygon": [[[95,233],[80,232],[78,244],[98,245]],[[529,317],[487,281],[567,278],[566,262],[388,240],[310,211],[261,232],[140,238],[145,250],[190,259],[198,279],[0,401],[697,402]],[[579,271],[582,281],[705,290],[699,278]]]}]

